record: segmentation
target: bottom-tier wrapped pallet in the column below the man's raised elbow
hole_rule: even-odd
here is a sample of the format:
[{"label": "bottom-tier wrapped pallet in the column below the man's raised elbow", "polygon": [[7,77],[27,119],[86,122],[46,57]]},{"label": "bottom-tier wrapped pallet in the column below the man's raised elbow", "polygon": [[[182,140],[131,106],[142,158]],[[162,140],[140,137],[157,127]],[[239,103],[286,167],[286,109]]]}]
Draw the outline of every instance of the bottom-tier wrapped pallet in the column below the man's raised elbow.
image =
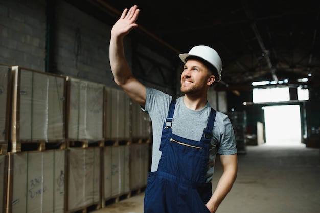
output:
[{"label": "bottom-tier wrapped pallet in the column below the man's raised elbow", "polygon": [[130,192],[130,146],[105,146],[103,153],[104,200]]}]

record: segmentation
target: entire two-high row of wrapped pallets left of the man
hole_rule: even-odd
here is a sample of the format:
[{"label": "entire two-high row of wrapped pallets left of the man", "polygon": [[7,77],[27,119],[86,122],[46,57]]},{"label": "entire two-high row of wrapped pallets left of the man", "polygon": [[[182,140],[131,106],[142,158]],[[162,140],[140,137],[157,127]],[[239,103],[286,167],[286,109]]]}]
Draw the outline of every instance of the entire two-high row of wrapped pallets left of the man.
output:
[{"label": "entire two-high row of wrapped pallets left of the man", "polygon": [[0,65],[3,212],[87,212],[146,186],[151,122],[120,89]]}]

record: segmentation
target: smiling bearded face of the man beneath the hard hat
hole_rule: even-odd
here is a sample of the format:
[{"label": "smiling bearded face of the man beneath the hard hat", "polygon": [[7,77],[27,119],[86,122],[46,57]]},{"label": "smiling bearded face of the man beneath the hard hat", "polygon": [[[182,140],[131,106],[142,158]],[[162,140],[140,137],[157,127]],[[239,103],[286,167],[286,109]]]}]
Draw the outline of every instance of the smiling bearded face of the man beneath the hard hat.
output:
[{"label": "smiling bearded face of the man beneath the hard hat", "polygon": [[181,92],[191,95],[198,92],[207,92],[209,86],[214,82],[215,76],[200,61],[189,59],[181,74]]}]

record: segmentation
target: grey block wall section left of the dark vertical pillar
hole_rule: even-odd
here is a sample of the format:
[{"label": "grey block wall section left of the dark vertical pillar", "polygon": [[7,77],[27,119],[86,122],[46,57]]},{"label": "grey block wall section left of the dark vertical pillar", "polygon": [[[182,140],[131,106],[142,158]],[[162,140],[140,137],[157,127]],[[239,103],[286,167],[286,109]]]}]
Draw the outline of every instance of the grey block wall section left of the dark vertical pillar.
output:
[{"label": "grey block wall section left of the dark vertical pillar", "polygon": [[0,2],[0,62],[44,71],[45,1]]}]

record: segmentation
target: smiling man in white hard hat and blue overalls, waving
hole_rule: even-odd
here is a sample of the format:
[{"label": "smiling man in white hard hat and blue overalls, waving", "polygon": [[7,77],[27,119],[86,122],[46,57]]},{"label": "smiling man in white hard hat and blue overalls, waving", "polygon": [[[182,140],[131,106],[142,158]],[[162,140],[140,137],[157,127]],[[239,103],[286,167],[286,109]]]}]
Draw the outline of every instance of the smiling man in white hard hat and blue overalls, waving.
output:
[{"label": "smiling man in white hard hat and blue overalls, waving", "polygon": [[[188,54],[180,54],[185,63],[181,74],[181,92],[185,95],[176,100],[145,87],[131,74],[123,49],[123,38],[138,26],[135,21],[139,12],[136,5],[125,9],[113,25],[110,65],[115,82],[152,120],[153,155],[144,211],[216,212],[231,190],[238,169],[230,120],[207,101],[209,87],[220,81],[221,59],[208,46],[195,46]],[[217,153],[223,174],[212,193]]]}]

